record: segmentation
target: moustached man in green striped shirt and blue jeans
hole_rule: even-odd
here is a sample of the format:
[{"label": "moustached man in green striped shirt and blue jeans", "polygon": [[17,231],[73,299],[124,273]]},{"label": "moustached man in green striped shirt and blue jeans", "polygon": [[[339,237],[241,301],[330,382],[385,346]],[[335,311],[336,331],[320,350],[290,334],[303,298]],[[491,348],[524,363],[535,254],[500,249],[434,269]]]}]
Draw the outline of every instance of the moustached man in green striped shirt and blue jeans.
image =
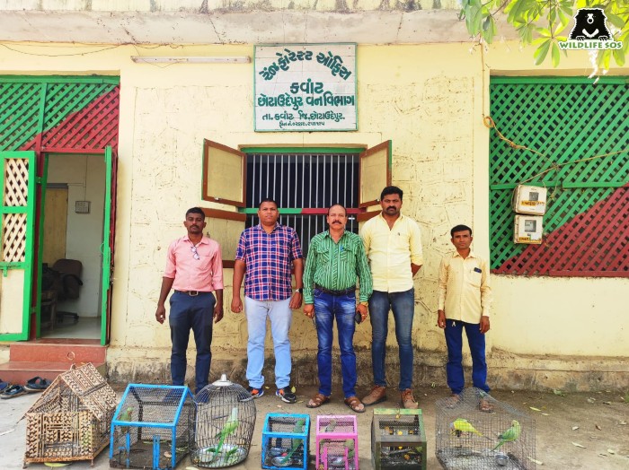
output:
[{"label": "moustached man in green striped shirt and blue jeans", "polygon": [[[332,394],[332,325],[336,318],[341,348],[341,374],[345,405],[364,413],[356,396],[356,353],[354,353],[354,316],[367,318],[368,300],[373,290],[371,271],[362,239],[345,231],[347,210],[342,205],[328,209],[328,231],[310,241],[304,272],[304,314],[314,318],[319,349],[319,392],[306,405],[318,408],[330,401]],[[356,302],[356,279],[359,279],[359,303]]]}]

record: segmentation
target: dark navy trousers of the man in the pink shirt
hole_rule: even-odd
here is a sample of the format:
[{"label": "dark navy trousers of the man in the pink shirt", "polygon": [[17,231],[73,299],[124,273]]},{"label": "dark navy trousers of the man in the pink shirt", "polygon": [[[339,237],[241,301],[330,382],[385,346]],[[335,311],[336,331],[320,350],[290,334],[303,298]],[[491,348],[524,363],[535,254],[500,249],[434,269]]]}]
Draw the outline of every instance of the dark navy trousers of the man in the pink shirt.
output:
[{"label": "dark navy trousers of the man in the pink shirt", "polygon": [[171,313],[168,324],[171,326],[171,376],[173,385],[183,385],[186,378],[186,350],[190,338],[190,328],[194,333],[194,344],[197,345],[197,361],[195,364],[195,393],[208,385],[209,366],[212,361],[210,346],[212,344],[212,322],[214,306],[217,300],[212,292],[199,292],[191,297],[188,294],[174,292],[171,296]]}]

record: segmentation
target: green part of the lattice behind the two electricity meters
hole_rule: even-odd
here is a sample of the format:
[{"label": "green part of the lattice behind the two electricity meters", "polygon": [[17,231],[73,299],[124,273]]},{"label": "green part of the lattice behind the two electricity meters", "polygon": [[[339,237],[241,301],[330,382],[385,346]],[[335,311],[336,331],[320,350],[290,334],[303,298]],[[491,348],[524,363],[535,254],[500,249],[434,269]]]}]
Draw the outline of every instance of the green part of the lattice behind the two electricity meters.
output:
[{"label": "green part of the lattice behind the two electricity meters", "polygon": [[[501,134],[545,154],[515,150],[492,130],[490,244],[492,269],[497,269],[527,248],[512,241],[515,185],[527,180],[548,187],[544,223],[550,233],[629,181],[629,89],[621,78],[596,85],[580,79],[497,78],[490,89],[491,116]],[[620,150],[625,152],[576,162]]]}]

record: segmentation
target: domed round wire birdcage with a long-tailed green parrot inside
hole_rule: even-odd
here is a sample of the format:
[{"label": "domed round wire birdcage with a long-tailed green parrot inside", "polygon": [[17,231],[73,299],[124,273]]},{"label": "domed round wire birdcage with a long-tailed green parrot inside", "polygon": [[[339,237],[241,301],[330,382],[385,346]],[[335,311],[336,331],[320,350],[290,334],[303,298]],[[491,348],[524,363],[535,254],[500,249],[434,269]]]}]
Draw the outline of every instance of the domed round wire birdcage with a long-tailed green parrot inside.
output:
[{"label": "domed round wire birdcage with a long-tailed green parrot inside", "polygon": [[251,394],[223,374],[194,398],[197,415],[190,422],[190,459],[197,466],[235,466],[249,455],[255,428]]}]

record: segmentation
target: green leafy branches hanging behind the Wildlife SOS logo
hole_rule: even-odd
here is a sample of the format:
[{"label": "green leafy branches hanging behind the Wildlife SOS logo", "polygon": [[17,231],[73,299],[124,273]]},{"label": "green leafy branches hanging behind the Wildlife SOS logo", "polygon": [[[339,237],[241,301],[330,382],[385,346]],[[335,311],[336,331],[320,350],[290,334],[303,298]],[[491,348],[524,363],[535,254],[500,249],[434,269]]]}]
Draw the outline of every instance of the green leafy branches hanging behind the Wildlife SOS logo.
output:
[{"label": "green leafy branches hanging behind the Wildlife SOS logo", "polygon": [[[536,46],[533,53],[536,65],[540,65],[550,52],[554,67],[559,65],[561,49],[558,42],[567,39],[572,18],[580,8],[601,8],[607,16],[607,26],[615,41],[622,41],[623,48],[600,49],[597,65],[608,70],[611,58],[616,65],[625,65],[629,49],[629,7],[627,0],[461,0],[459,20],[474,39],[491,44],[498,30],[496,14],[503,11],[507,22],[518,31],[520,41]],[[565,55],[566,52],[563,51]]]}]

